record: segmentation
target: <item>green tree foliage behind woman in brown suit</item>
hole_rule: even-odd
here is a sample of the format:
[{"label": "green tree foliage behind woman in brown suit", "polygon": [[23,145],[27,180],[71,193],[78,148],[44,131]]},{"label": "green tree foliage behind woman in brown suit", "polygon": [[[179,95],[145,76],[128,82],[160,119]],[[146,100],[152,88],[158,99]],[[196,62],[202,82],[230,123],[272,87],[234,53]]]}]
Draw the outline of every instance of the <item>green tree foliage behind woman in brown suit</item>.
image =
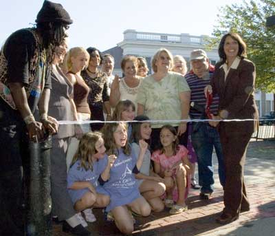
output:
[{"label": "green tree foliage behind woman in brown suit", "polygon": [[256,65],[256,87],[275,93],[275,26],[266,28],[266,18],[275,14],[274,0],[243,0],[226,5],[217,15],[210,46],[218,45],[226,32],[237,32],[248,46],[248,59]]}]

